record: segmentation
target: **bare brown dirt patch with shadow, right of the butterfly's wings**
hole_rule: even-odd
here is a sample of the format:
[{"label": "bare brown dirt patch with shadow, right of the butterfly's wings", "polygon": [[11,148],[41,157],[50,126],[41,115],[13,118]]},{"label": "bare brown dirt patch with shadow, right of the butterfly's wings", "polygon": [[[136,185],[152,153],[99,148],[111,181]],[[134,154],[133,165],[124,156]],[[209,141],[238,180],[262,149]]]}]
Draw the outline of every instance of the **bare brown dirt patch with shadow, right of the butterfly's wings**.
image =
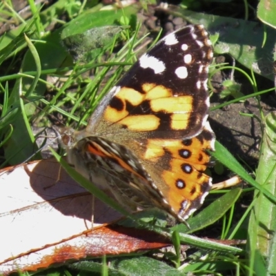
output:
[{"label": "bare brown dirt patch with shadow, right of the butterfly's wings", "polygon": [[[212,104],[216,105],[217,103]],[[228,108],[211,111],[209,121],[217,141],[237,159],[243,159],[250,166],[254,166],[259,157],[261,125],[257,119],[241,113],[259,116],[256,100],[250,98],[244,103],[232,103]]]}]

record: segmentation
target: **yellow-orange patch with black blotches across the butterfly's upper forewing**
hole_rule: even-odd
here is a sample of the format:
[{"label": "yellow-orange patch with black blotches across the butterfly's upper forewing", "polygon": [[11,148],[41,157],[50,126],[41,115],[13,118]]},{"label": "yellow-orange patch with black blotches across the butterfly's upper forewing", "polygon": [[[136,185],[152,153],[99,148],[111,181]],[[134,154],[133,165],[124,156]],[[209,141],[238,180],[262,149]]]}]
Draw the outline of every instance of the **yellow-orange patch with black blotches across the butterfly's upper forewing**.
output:
[{"label": "yellow-orange patch with black blotches across the butterfly's upper forewing", "polygon": [[[193,112],[191,95],[173,97],[172,91],[155,83],[145,83],[142,91],[122,87],[104,113],[104,119],[132,131],[153,131],[160,126],[159,114],[170,115],[171,130],[186,130]],[[145,108],[135,109],[144,106]],[[146,110],[146,113],[145,113]]]}]

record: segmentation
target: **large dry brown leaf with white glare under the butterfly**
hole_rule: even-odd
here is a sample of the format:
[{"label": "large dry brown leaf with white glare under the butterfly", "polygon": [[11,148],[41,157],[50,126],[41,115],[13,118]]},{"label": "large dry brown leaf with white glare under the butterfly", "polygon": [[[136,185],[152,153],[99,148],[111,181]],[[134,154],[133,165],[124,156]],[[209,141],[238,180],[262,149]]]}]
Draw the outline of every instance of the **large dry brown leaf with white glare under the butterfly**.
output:
[{"label": "large dry brown leaf with white glare under the butterfly", "polygon": [[148,230],[107,226],[121,215],[96,198],[92,210],[92,195],[53,159],[1,170],[0,202],[3,275],[168,245]]}]

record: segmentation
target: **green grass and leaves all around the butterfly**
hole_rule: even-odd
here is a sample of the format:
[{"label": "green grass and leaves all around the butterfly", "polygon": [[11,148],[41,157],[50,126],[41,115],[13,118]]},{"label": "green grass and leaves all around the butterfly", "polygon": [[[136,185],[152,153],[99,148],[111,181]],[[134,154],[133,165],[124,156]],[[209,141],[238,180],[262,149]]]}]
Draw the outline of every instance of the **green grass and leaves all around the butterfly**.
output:
[{"label": "green grass and leaves all around the butterfly", "polygon": [[[18,26],[0,37],[0,146],[4,148],[2,168],[41,158],[40,149],[34,146],[37,137],[32,132],[32,126],[51,126],[51,115],[61,115],[62,124],[66,126],[84,128],[99,101],[135,62],[137,49],[141,53],[146,52],[146,32],[140,34],[144,29],[140,30],[136,17],[139,5],[125,8],[124,12],[114,12],[100,11],[103,5],[96,1],[90,2],[90,6],[85,1],[82,5],[77,1],[57,1],[45,9],[42,6],[34,6],[33,1],[29,2],[32,16],[28,19],[23,19],[15,12],[9,1],[0,4],[0,14],[8,14]],[[212,8],[212,3],[209,3],[209,6],[201,2],[183,1],[182,8],[168,12],[191,23],[204,23],[207,30],[214,34],[211,38],[215,45],[215,55],[231,55],[237,61],[236,66],[214,64],[210,69],[210,77],[218,70],[233,70],[234,77],[239,71],[239,74],[243,75],[242,80],[248,82],[253,91],[248,94],[239,86],[235,86],[235,80],[227,80],[227,91],[223,94],[223,100],[213,107],[215,110],[235,105],[252,97],[259,105],[259,116],[250,115],[262,122],[264,130],[264,144],[261,146],[262,155],[257,170],[249,171],[242,161],[237,161],[228,152],[231,151],[230,148],[226,150],[218,142],[214,153],[214,157],[221,164],[239,175],[250,186],[213,191],[206,199],[206,208],[199,210],[188,220],[190,229],[184,224],[162,228],[158,226],[164,224],[162,220],[159,224],[149,226],[145,221],[132,217],[138,221],[136,227],[153,230],[172,240],[176,253],[166,253],[166,263],[152,258],[150,253],[147,256],[132,253],[124,257],[100,257],[93,262],[77,262],[70,266],[50,268],[42,271],[41,275],[77,275],[76,269],[78,275],[185,275],[188,272],[195,275],[275,275],[275,117],[274,113],[271,113],[270,117],[266,118],[260,104],[261,95],[274,91],[275,88],[271,82],[271,88],[259,90],[257,79],[271,81],[275,78],[273,71],[269,70],[274,58],[276,32],[273,28],[276,24],[273,20],[276,14],[273,10],[267,14],[264,9],[265,1],[260,1],[262,9],[258,10],[258,15],[260,20],[266,23],[256,23],[253,21],[253,14],[257,6],[253,6],[250,1],[230,1],[227,4],[221,1],[215,8]],[[183,8],[187,6],[187,10]],[[195,12],[195,6],[205,13]],[[243,12],[235,14],[234,11],[238,10]],[[62,14],[67,14],[68,21],[61,20]],[[58,25],[48,31],[52,22],[57,22]],[[72,39],[72,34],[83,33],[86,29],[115,24],[123,27],[121,30],[115,30],[114,39],[104,42],[106,47],[95,48],[89,55],[86,55],[84,48],[81,54],[78,54],[82,60],[73,62],[65,49],[66,41],[62,41],[61,37]],[[99,37],[101,38],[101,35]],[[96,41],[98,42],[101,41]],[[83,44],[81,42],[80,46]],[[88,48],[90,45],[91,41]],[[212,95],[210,81],[209,87]],[[72,168],[68,170],[75,174]],[[107,204],[124,213],[116,202],[112,203],[101,195],[101,191],[91,188],[88,181],[79,175],[75,177]],[[244,213],[238,213],[237,210],[240,209],[237,208],[237,203],[240,204],[242,198],[248,195],[253,195],[253,201],[244,208]],[[132,225],[129,220],[124,223],[126,226]],[[208,235],[223,240],[244,239],[247,244],[231,246],[201,238]],[[184,262],[180,260],[180,244],[195,248],[187,253],[188,258]],[[150,268],[155,270],[155,274],[150,274]]]}]

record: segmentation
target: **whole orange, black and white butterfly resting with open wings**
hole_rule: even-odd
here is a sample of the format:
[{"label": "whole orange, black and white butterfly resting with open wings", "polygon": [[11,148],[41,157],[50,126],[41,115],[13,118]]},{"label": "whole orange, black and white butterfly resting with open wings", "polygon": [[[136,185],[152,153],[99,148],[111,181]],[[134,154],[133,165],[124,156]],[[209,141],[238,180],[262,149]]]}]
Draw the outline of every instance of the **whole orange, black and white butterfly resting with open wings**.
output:
[{"label": "whole orange, black and white butterfly resting with open wings", "polygon": [[79,132],[65,128],[68,162],[128,210],[186,221],[212,187],[208,124],[213,48],[201,25],[161,39],[103,97]]}]

